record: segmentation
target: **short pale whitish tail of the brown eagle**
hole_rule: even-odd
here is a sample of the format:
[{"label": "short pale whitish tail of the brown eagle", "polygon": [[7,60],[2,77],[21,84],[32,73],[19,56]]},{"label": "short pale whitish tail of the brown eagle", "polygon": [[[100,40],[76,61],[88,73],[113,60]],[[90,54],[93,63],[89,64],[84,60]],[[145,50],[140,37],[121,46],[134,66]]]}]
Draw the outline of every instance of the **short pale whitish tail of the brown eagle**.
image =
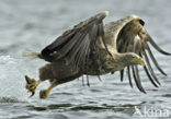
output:
[{"label": "short pale whitish tail of the brown eagle", "polygon": [[27,58],[41,58],[41,53],[39,52],[32,51],[32,50],[23,52],[22,56],[23,57],[27,57]]}]

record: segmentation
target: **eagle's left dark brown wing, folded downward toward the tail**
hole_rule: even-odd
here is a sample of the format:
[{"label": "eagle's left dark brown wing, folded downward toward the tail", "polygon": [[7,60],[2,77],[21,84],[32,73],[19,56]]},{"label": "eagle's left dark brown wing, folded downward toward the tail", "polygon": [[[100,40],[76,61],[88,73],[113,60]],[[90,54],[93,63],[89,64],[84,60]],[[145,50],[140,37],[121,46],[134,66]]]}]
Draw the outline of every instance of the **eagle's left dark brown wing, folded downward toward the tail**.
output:
[{"label": "eagle's left dark brown wing, folded downward toward the tail", "polygon": [[53,44],[42,50],[43,59],[49,62],[64,59],[67,63],[73,62],[76,66],[83,67],[87,57],[89,57],[100,37],[106,48],[103,19],[107,14],[107,11],[101,12],[65,32]]}]

